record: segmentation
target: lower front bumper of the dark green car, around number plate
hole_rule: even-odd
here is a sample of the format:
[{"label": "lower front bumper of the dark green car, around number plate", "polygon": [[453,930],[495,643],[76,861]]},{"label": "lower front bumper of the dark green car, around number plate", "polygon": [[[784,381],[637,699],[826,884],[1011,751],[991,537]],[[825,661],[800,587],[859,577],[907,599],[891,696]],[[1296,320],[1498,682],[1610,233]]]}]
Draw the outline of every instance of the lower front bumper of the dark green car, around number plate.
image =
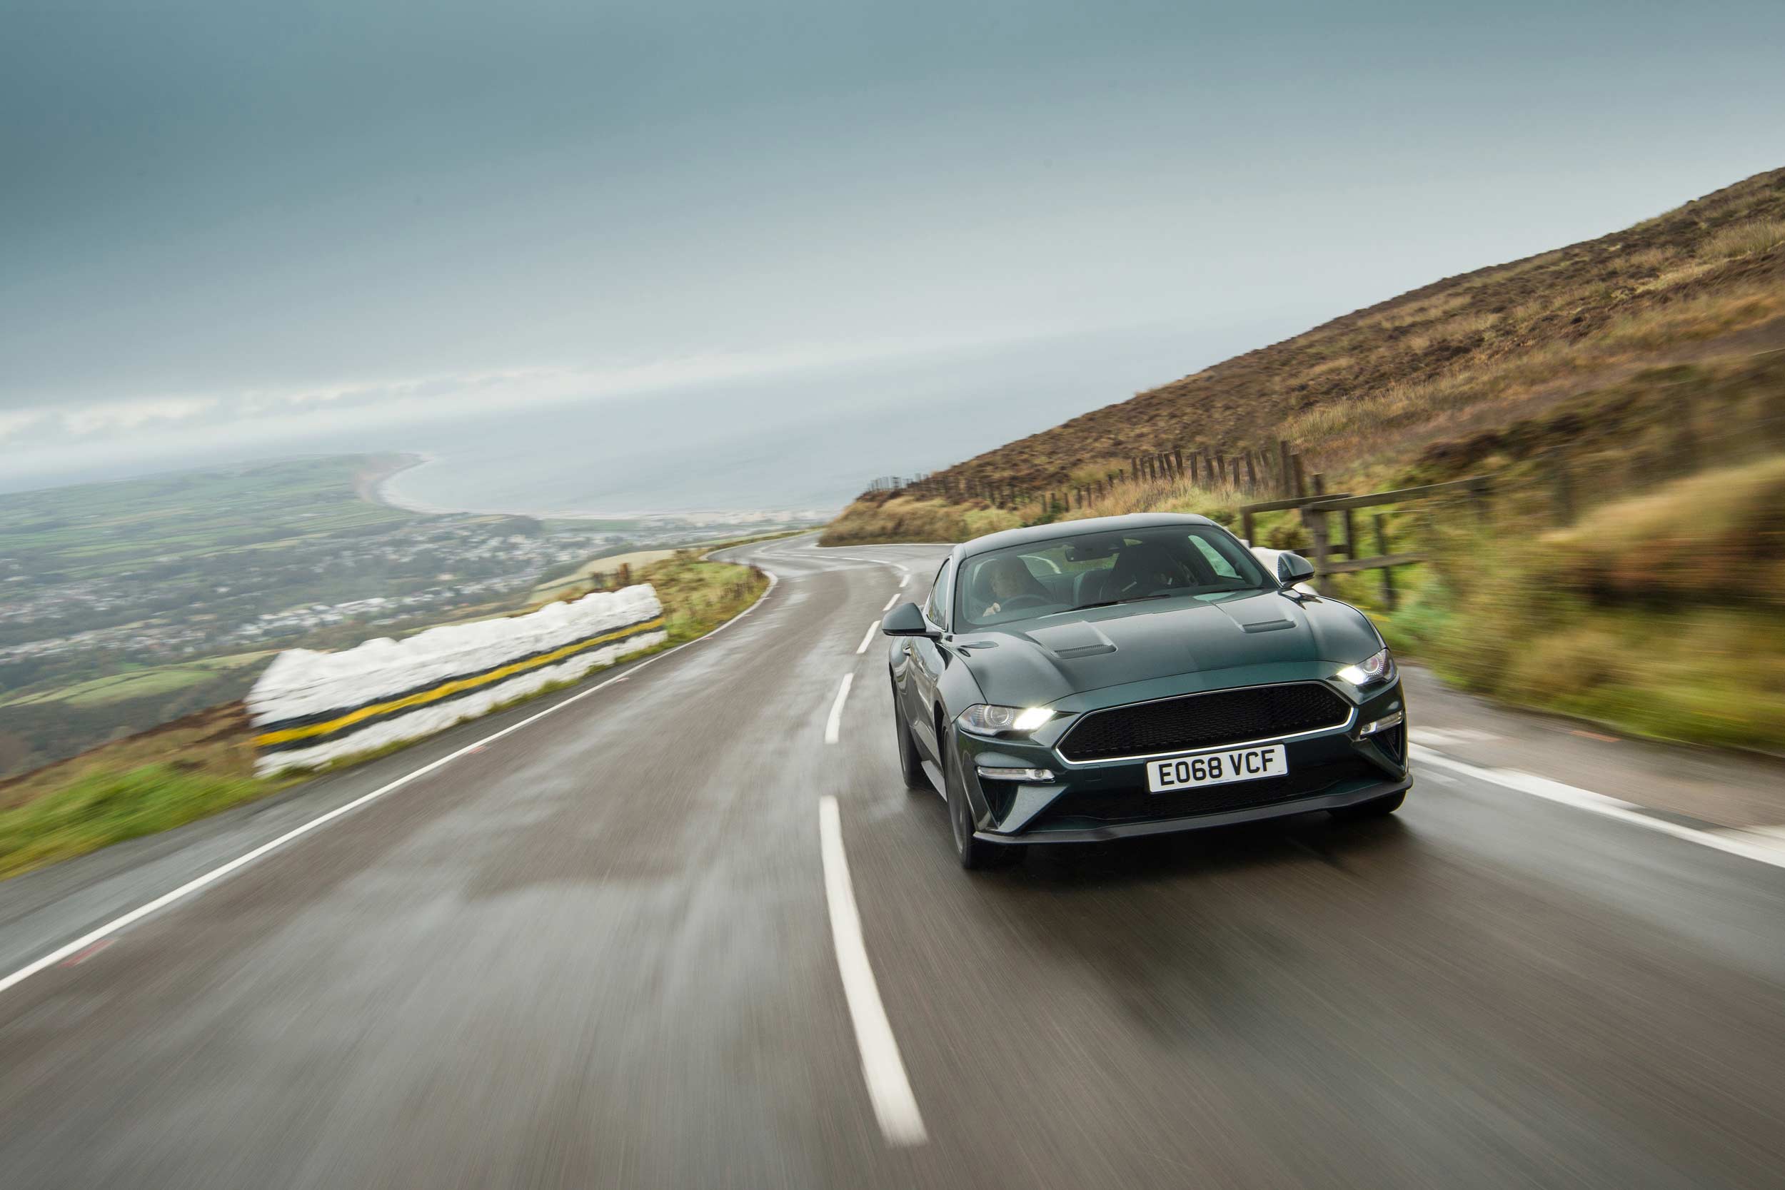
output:
[{"label": "lower front bumper of the dark green car, around number plate", "polygon": [[[1048,733],[1046,740],[978,739],[957,731],[959,773],[975,810],[975,835],[987,842],[1007,844],[1101,842],[1335,810],[1408,789],[1412,773],[1407,762],[1399,680],[1362,698],[1342,683],[1335,683],[1333,689],[1355,707],[1348,723],[1292,737],[1246,740],[1282,742],[1289,758],[1285,776],[1166,794],[1148,790],[1146,764],[1167,753],[1073,764],[1055,748],[1064,730]],[[1396,715],[1401,715],[1401,721],[1392,728],[1371,735],[1358,733]],[[991,780],[978,774],[980,767],[1048,769],[1053,780],[1048,783]]]}]

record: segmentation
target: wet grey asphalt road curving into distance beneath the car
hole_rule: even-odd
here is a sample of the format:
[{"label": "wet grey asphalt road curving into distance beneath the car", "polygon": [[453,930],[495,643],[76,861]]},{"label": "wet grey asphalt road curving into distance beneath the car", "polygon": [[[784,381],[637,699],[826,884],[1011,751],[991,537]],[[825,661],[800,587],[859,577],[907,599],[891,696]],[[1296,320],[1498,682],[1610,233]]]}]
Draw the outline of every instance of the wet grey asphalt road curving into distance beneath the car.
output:
[{"label": "wet grey asphalt road curving into distance beneath the car", "polygon": [[0,1183],[1785,1185],[1785,869],[1421,765],[969,876],[857,651],[941,550],[750,553],[623,682],[0,885],[5,974],[555,707],[0,992]]}]

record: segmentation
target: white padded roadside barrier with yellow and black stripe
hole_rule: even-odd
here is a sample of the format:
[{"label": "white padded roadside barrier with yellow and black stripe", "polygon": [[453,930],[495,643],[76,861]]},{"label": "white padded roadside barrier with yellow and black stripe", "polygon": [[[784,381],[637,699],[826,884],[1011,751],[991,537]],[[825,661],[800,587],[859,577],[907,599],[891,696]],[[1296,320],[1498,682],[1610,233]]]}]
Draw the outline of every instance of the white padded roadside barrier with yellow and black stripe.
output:
[{"label": "white padded roadside barrier with yellow and black stripe", "polygon": [[343,653],[287,649],[246,698],[255,771],[314,769],[421,739],[664,639],[662,603],[641,583]]}]

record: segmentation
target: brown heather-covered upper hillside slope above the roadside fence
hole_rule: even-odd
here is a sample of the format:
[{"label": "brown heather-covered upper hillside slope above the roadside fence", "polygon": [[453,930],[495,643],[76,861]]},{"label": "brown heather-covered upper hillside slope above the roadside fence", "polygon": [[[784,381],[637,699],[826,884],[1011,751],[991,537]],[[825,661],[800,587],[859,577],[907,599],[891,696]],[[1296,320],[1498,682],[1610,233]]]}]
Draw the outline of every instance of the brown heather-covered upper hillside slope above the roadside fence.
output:
[{"label": "brown heather-covered upper hillside slope above the roadside fence", "polygon": [[1039,492],[1139,453],[1280,437],[1323,469],[1408,459],[1642,368],[1785,346],[1781,243],[1785,169],[1773,169],[1599,239],[1437,280],[934,478]]}]

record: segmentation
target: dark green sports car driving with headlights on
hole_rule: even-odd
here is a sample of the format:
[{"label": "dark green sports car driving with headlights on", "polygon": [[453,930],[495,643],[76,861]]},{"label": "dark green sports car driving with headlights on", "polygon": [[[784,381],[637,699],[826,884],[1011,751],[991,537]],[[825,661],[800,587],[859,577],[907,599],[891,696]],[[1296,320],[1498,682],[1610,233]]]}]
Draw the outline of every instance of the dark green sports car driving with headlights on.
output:
[{"label": "dark green sports car driving with headlights on", "polygon": [[1348,603],[1200,516],[1125,516],[955,546],[891,649],[910,789],[948,801],[964,867],[1330,810],[1392,814],[1412,776],[1394,658]]}]

